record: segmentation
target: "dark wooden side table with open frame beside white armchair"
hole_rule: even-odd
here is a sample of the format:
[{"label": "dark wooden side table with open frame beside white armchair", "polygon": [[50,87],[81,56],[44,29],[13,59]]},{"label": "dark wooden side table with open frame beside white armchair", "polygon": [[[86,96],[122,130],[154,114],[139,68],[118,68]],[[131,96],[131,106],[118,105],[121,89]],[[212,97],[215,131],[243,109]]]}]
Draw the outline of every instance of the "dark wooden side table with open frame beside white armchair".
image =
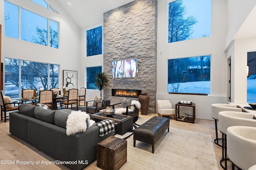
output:
[{"label": "dark wooden side table with open frame beside white armchair", "polygon": [[[192,117],[185,117],[184,116],[180,116],[180,106],[184,106],[184,107],[192,107],[193,109],[193,115]],[[175,105],[175,110],[176,110],[176,121],[184,121],[184,122],[188,122],[188,123],[195,123],[195,118],[196,118],[196,104],[192,103],[192,104],[180,104],[179,102]],[[182,120],[183,119],[183,120]]]}]

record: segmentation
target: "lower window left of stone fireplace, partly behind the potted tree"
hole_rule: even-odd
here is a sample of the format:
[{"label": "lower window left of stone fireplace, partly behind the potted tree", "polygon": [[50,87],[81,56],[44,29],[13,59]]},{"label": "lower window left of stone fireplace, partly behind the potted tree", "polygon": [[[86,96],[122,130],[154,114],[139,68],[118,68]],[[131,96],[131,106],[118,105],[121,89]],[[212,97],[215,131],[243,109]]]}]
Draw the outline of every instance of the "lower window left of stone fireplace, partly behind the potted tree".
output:
[{"label": "lower window left of stone fireplace, partly behind the potted tree", "polygon": [[96,66],[96,67],[87,67],[87,77],[86,77],[86,84],[87,89],[94,89],[98,90],[98,88],[95,86],[95,80],[96,75],[100,72],[102,72],[102,66]]}]

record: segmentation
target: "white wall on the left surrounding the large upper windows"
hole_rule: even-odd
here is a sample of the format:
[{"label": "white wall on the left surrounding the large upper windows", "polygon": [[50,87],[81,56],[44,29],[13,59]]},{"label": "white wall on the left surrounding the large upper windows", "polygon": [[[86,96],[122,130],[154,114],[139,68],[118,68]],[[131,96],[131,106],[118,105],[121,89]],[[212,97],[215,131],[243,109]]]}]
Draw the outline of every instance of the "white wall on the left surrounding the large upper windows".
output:
[{"label": "white wall on the left surrounding the large upper windows", "polygon": [[80,29],[66,15],[58,4],[51,0],[52,6],[59,14],[52,12],[30,0],[9,0],[27,10],[59,22],[59,49],[46,47],[19,39],[4,36],[4,0],[0,0],[0,24],[2,24],[2,56],[4,58],[22,59],[42,63],[60,64],[59,84],[63,86],[63,70],[78,71],[78,88],[80,87]]}]

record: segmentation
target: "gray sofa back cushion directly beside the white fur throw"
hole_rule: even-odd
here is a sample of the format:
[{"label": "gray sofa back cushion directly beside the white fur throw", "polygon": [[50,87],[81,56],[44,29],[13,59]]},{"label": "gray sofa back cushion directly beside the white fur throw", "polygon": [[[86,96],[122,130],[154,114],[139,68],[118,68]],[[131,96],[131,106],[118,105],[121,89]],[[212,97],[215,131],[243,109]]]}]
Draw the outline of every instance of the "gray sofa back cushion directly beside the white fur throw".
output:
[{"label": "gray sofa back cushion directly beside the white fur throw", "polygon": [[61,109],[55,111],[54,123],[58,127],[66,129],[68,115],[71,113],[71,109]]}]

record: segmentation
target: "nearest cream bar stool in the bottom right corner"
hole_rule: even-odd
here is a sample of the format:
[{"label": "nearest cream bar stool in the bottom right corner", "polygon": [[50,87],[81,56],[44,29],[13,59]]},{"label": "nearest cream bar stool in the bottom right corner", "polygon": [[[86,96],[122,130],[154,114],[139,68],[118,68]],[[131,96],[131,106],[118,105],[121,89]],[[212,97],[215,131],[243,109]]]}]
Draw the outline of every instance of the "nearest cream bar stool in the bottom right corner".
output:
[{"label": "nearest cream bar stool in the bottom right corner", "polygon": [[[227,129],[228,157],[232,170],[248,170],[256,163],[256,127],[231,126]],[[255,167],[256,168],[256,167]]]}]

